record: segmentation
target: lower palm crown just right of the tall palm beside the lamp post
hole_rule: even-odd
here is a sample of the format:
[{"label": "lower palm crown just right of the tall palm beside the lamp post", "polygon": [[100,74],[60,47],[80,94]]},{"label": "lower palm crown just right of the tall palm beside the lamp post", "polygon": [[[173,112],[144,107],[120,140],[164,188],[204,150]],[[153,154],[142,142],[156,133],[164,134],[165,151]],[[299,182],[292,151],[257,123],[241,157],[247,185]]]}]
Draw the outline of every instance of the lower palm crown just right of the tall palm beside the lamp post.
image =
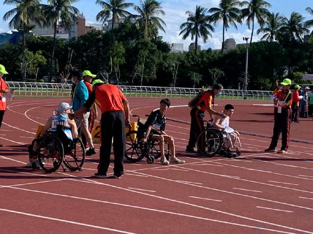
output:
[{"label": "lower palm crown just right of the tall palm beside the lamp post", "polygon": [[256,31],[256,34],[259,35],[260,33],[264,33],[261,40],[265,39],[268,42],[273,42],[276,39],[280,27],[282,26],[282,20],[283,17],[280,16],[279,13],[270,13],[266,17],[264,25]]}]

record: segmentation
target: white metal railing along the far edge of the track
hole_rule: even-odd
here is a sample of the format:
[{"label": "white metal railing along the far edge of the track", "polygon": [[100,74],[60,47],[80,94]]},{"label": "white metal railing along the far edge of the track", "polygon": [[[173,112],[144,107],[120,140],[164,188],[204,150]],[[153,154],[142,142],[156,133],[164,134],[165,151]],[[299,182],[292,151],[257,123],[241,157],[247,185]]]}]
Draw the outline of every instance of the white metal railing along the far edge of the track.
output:
[{"label": "white metal railing along the far edge of the track", "polygon": [[[72,84],[6,82],[15,96],[70,96]],[[201,88],[119,85],[126,97],[193,98]],[[269,100],[272,91],[224,89],[220,99]]]}]

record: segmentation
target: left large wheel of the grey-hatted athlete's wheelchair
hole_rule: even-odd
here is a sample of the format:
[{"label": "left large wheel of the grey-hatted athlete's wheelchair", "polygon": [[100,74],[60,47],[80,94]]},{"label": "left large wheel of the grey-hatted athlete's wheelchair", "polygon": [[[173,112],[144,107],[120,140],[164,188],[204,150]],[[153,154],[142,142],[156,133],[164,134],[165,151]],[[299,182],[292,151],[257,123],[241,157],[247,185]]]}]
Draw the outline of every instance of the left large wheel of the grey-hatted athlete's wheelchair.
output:
[{"label": "left large wheel of the grey-hatted athlete's wheelchair", "polygon": [[63,156],[63,145],[58,137],[47,135],[42,139],[38,150],[38,162],[45,172],[51,173],[58,170]]}]

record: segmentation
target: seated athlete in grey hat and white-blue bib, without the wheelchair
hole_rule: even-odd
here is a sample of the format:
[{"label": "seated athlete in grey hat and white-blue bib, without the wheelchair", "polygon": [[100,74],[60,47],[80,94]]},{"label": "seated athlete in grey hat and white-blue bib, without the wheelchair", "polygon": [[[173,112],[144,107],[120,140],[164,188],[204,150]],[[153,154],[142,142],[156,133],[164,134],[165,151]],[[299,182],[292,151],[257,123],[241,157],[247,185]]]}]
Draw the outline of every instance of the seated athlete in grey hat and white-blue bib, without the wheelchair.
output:
[{"label": "seated athlete in grey hat and white-blue bib, without the wheelchair", "polygon": [[[64,144],[67,148],[72,145],[72,142],[75,142],[75,139],[77,139],[78,136],[78,131],[75,121],[68,119],[68,114],[71,113],[71,108],[72,106],[69,106],[68,103],[59,104],[58,108],[55,110],[56,114],[47,120],[45,127],[41,130],[38,136],[38,139],[33,140],[32,144],[29,146],[29,163],[26,167],[32,166],[32,156],[37,156],[40,139],[46,135],[48,130],[50,132],[56,132],[62,144]],[[65,150],[67,148],[65,148]],[[40,167],[37,159],[36,165],[37,167]]]}]

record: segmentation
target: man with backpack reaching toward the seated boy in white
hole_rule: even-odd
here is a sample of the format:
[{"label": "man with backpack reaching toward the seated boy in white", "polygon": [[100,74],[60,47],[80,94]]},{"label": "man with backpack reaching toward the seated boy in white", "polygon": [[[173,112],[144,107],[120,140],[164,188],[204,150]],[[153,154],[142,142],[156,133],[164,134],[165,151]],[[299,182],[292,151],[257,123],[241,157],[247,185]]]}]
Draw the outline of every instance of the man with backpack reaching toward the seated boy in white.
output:
[{"label": "man with backpack reaching toward the seated boy in white", "polygon": [[[213,85],[212,90],[205,92],[198,101],[197,107],[193,107],[190,111],[191,116],[191,125],[190,125],[190,134],[189,141],[186,147],[186,152],[195,153],[197,152],[194,147],[196,146],[198,136],[204,130],[204,111],[209,112],[210,119],[212,119],[212,115],[218,115],[222,118],[225,118],[226,115],[224,113],[219,113],[212,109],[212,105],[214,106],[214,99],[222,94],[223,85],[216,83]],[[204,139],[203,141],[204,144]],[[200,143],[201,143],[200,142]],[[203,148],[203,144],[200,146]],[[203,150],[202,150],[203,151]],[[201,151],[198,150],[198,154],[201,155]]]}]

